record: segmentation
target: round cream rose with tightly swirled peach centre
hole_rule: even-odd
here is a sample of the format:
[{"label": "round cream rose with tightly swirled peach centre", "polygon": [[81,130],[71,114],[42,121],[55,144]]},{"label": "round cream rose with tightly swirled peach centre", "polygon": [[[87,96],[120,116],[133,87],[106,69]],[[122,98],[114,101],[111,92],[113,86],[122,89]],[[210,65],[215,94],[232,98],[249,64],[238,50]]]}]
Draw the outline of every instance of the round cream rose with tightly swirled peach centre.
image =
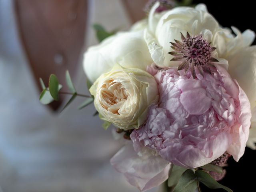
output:
[{"label": "round cream rose with tightly swirled peach centre", "polygon": [[154,77],[141,69],[116,64],[90,88],[103,120],[121,129],[137,129],[147,118],[148,106],[158,102]]}]

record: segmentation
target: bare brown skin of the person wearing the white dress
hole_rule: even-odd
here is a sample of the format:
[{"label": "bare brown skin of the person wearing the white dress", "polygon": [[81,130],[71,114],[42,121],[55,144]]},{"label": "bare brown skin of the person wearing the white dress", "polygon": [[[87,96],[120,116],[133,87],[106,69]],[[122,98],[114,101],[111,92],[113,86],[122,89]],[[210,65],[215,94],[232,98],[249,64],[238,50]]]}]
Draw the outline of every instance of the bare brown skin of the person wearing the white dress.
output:
[{"label": "bare brown skin of the person wearing the white dress", "polygon": [[[144,17],[142,11],[147,0],[122,0],[132,22]],[[71,78],[76,76],[78,60],[84,46],[87,0],[15,0],[20,38],[38,86],[39,78],[48,84],[50,74],[56,74],[62,92],[68,92],[65,72],[69,70]],[[56,60],[62,62],[58,64]],[[59,58],[58,58],[59,57]],[[55,58],[55,61],[54,61]],[[50,108],[58,110],[65,95],[59,102],[52,102]]]}]

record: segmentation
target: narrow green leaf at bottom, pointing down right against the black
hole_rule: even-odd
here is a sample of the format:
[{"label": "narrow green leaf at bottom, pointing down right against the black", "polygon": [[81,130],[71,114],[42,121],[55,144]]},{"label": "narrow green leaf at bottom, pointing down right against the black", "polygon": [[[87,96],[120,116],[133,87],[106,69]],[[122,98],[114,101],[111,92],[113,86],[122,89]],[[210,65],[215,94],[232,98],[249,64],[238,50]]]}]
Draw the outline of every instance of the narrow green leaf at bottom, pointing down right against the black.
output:
[{"label": "narrow green leaf at bottom, pointing down right against the black", "polygon": [[218,182],[216,182],[216,180],[214,180],[214,178],[212,178],[212,176],[210,176],[210,174],[208,174],[205,171],[197,170],[195,172],[195,174],[196,174],[196,177],[198,178],[198,180],[210,189],[222,188],[228,192],[232,192],[232,190],[230,188],[223,186],[222,184],[219,184]]}]

